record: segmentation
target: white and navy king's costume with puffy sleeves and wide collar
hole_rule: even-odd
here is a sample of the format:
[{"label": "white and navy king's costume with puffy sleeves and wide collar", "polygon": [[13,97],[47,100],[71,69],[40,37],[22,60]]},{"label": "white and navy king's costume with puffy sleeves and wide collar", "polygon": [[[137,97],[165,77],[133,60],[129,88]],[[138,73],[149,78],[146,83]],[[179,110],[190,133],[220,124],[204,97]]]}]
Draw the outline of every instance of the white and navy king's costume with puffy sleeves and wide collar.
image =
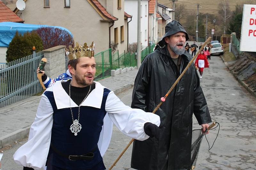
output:
[{"label": "white and navy king's costume with puffy sleeves and wide collar", "polygon": [[[144,132],[144,124],[146,122],[152,122],[157,126],[160,125],[158,115],[147,113],[140,109],[132,109],[124,105],[114,92],[94,81],[95,89],[92,90],[80,107],[80,119],[83,129],[77,136],[74,136],[69,131],[72,123],[69,107],[72,107],[73,112],[77,114],[78,106],[73,100],[70,100],[70,106],[69,96],[61,85],[63,81],[66,80],[55,82],[55,85],[47,88],[42,94],[35,121],[30,128],[28,142],[22,145],[13,156],[16,163],[34,169],[44,167],[48,154],[52,153],[50,149],[50,143],[52,142],[58,150],[62,152],[67,150],[67,153],[74,152],[75,154],[81,154],[80,150],[91,151],[93,147],[97,146],[97,150],[94,152],[94,160],[92,160],[92,164],[96,164],[102,160],[101,155],[106,152],[108,141],[111,138],[111,135],[102,134],[102,131],[106,129],[103,121],[106,113],[108,113],[109,118],[120,131],[137,140],[149,138]],[[57,128],[58,126],[60,128]],[[106,133],[108,131],[107,129]],[[64,143],[63,146],[62,143]],[[65,143],[67,146],[65,146]],[[63,151],[61,147],[67,149]],[[55,165],[61,165],[67,169],[70,165],[77,166],[72,167],[74,169],[79,169],[82,165],[88,168],[93,166],[88,162],[77,161],[70,165],[68,162],[62,164],[63,160],[56,155],[54,155],[54,161]]]}]

